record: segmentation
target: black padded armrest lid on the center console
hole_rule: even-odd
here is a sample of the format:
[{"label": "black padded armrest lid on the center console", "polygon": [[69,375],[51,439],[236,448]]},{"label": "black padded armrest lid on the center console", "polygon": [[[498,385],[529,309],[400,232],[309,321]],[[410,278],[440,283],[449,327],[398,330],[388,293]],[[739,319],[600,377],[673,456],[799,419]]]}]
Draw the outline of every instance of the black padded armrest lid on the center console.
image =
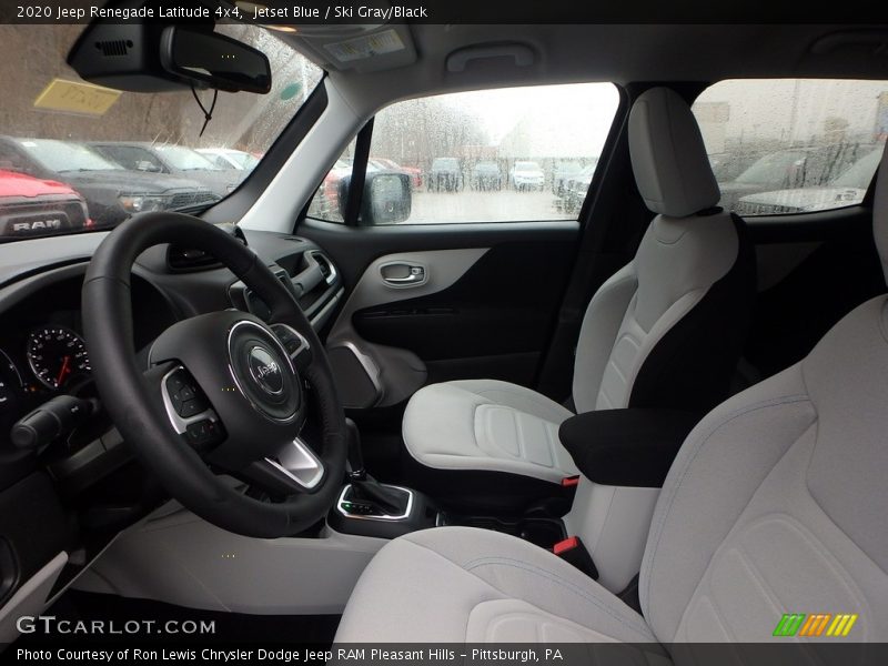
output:
[{"label": "black padded armrest lid on the center console", "polygon": [[562,423],[558,437],[589,481],[662,487],[687,434],[700,420],[678,410],[598,410]]}]

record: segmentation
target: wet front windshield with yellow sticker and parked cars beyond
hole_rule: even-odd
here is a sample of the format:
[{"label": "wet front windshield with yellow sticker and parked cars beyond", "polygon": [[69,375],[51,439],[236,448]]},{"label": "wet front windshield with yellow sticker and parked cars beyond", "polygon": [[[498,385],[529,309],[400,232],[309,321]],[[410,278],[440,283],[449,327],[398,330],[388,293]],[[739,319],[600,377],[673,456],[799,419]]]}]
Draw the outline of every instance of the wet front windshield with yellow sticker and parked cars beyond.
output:
[{"label": "wet front windshield with yellow sticker and parked cars beyond", "polygon": [[[0,171],[22,174],[3,182],[0,242],[110,229],[139,212],[212,205],[249,178],[323,75],[285,34],[220,24],[219,32],[268,56],[272,90],[220,92],[201,133],[204,114],[188,88],[137,93],[82,81],[65,58],[83,29],[0,26]],[[209,109],[213,91],[196,94]],[[63,183],[63,193],[46,181]],[[12,208],[22,196],[29,198],[27,214],[20,204]]]}]

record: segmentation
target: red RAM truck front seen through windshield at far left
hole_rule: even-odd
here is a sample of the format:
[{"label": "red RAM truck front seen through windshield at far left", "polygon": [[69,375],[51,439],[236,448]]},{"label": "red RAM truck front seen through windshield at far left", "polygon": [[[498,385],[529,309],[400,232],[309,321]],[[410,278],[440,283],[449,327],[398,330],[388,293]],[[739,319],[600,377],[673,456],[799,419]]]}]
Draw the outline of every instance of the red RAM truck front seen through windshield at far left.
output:
[{"label": "red RAM truck front seen through windshield at far left", "polygon": [[85,200],[64,183],[0,170],[0,238],[72,233],[91,224]]}]

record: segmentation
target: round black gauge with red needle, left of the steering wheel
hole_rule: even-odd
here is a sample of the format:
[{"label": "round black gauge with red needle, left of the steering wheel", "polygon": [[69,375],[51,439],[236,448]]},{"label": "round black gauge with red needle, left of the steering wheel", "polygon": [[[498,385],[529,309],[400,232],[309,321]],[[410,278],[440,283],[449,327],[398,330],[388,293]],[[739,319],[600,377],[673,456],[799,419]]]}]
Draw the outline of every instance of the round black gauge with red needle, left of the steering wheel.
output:
[{"label": "round black gauge with red needle, left of the steering wheel", "polygon": [[61,389],[77,375],[89,374],[83,339],[64,326],[46,326],[28,336],[28,364],[48,389]]}]

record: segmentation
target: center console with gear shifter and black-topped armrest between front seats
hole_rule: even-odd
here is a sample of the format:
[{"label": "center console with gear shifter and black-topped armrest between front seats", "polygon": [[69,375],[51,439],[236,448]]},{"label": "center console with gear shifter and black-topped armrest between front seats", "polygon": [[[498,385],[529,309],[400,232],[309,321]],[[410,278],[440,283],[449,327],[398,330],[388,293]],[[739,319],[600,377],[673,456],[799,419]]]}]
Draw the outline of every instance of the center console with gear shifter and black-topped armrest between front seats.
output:
[{"label": "center console with gear shifter and black-topped armrest between front seats", "polygon": [[603,410],[568,418],[558,434],[582,472],[566,480],[566,490],[575,495],[567,497],[565,488],[553,486],[549,501],[494,515],[445,511],[414,488],[376,482],[363,470],[357,427],[349,422],[352,472],[327,525],[341,534],[383,539],[460,525],[511,534],[556,553],[578,547],[588,562],[577,566],[620,593],[638,573],[663,481],[697,421],[695,413],[653,408]]}]

